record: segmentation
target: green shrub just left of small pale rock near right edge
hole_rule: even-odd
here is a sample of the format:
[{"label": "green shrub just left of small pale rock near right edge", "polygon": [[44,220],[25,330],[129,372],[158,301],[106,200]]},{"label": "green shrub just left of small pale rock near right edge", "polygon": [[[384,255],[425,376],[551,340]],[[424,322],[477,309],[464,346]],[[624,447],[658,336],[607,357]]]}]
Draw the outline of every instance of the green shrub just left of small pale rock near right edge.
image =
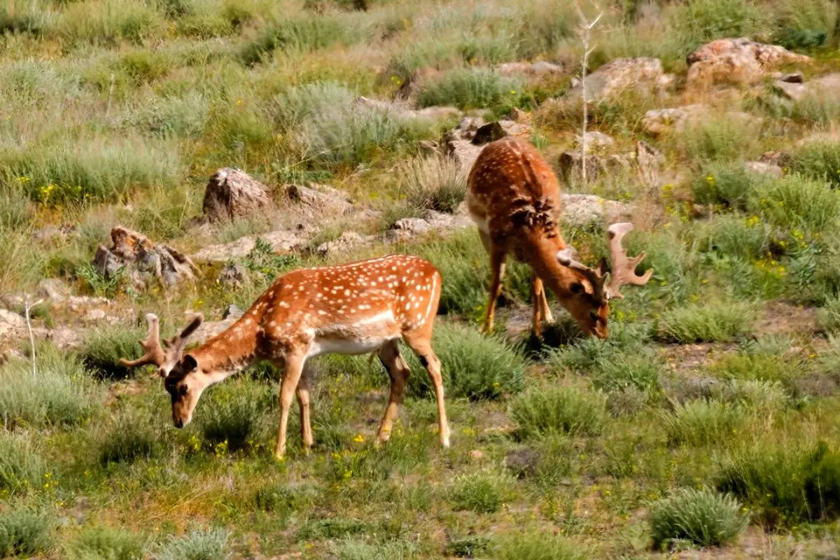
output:
[{"label": "green shrub just left of small pale rock near right edge", "polygon": [[763,178],[750,174],[740,162],[711,162],[691,182],[694,200],[701,204],[721,204],[734,210],[747,207],[753,183]]}]

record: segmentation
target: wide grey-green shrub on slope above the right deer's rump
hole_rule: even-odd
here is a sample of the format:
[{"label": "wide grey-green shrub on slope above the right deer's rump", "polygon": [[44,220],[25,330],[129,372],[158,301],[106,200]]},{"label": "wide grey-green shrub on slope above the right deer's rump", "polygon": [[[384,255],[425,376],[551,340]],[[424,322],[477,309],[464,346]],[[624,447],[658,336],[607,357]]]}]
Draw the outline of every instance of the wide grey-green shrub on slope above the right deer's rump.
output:
[{"label": "wide grey-green shrub on slope above the right deer's rump", "polygon": [[463,68],[429,81],[417,92],[420,107],[445,105],[461,109],[514,107],[522,97],[521,80],[504,78],[486,68]]}]

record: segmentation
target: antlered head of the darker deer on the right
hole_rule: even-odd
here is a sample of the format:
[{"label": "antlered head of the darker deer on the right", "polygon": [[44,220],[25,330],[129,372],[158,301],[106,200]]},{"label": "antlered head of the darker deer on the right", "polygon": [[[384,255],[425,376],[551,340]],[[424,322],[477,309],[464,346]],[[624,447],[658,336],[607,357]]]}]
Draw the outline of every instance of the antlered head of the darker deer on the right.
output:
[{"label": "antlered head of the darker deer on the right", "polygon": [[644,259],[644,253],[630,259],[622,247],[622,238],[632,229],[633,224],[625,222],[614,223],[606,230],[612,267],[607,266],[606,259],[601,259],[597,268],[590,268],[576,260],[574,249],[563,249],[557,254],[559,264],[571,270],[575,278],[564,286],[568,293],[561,294],[560,299],[587,335],[606,338],[610,300],[624,297],[620,291],[622,285],[645,285],[654,274],[649,269],[641,276],[636,275],[636,266]]}]

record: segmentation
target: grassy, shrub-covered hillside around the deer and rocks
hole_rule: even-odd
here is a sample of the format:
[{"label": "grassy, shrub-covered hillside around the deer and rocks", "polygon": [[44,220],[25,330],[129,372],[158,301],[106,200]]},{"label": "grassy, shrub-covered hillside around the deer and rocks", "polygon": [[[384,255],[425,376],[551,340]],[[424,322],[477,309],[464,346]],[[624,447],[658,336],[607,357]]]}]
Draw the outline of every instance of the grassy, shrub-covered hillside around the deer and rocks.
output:
[{"label": "grassy, shrub-covered hillside around the deer and rocks", "polygon": [[[58,278],[76,295],[112,299],[123,319],[90,328],[48,302],[36,326],[77,328],[81,344],[39,343],[35,375],[24,358],[0,364],[0,556],[837,556],[840,102],[790,101],[769,78],[690,92],[685,56],[711,39],[748,36],[811,55],[782,69],[811,80],[840,70],[840,8],[601,8],[591,71],[650,56],[675,81],[662,93],[592,103],[588,126],[612,135],[618,151],[645,140],[664,164],[653,185],[618,170],[564,190],[633,204],[627,244],[647,252],[653,280],[613,302],[607,341],[576,338],[554,301],[558,322],[540,345],[522,332],[522,267],[509,269],[496,332],[479,334],[489,270],[471,229],[330,256],[402,252],[438,265],[434,343],[453,447],[438,446],[417,360],[391,442],[376,449],[385,372],[365,357],[323,357],[314,453],[302,453],[295,412],[289,457],[276,463],[273,370],[209,390],[196,421],[176,431],[160,379],[116,364],[139,352],[144,313],[158,313],[168,332],[186,311],[218,320],[276,275],[324,259],[256,252],[240,259],[253,274],[238,288],[207,267],[195,285],[137,290],[92,270],[97,245],[122,224],[192,254],[290,223],[278,205],[196,227],[207,178],[228,166],[278,200],[281,186],[312,181],[381,211],[365,223],[320,224],[318,243],[350,227],[381,233],[430,205],[452,211],[463,174],[423,145],[457,119],[354,104],[360,95],[390,100],[407,82],[419,107],[530,113],[531,140],[557,164],[580,127],[580,104],[564,97],[580,73],[575,5],[5,0],[0,294]],[[496,71],[519,60],[565,71]],[[659,135],[644,128],[648,110],[690,103],[702,105],[701,118]],[[785,153],[783,176],[745,170],[769,151]],[[606,254],[602,228],[565,227],[564,236],[587,262]]]}]

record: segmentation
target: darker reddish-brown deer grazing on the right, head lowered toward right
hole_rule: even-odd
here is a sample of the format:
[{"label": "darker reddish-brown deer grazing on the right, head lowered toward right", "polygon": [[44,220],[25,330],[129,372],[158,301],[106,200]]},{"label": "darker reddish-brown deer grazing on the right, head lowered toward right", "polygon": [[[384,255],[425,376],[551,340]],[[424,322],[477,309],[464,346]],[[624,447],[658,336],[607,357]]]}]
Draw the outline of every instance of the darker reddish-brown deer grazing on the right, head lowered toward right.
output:
[{"label": "darker reddish-brown deer grazing on the right, head lowered toward right", "polygon": [[537,336],[541,334],[540,320],[553,321],[543,282],[583,332],[606,338],[610,299],[623,297],[619,291],[622,285],[644,285],[654,273],[648,270],[636,275],[644,253],[628,259],[622,249],[624,234],[633,229],[630,223],[615,223],[607,229],[612,273],[604,259],[597,269],[574,259],[574,249],[566,246],[559,232],[557,176],[537,149],[523,140],[506,137],[487,144],[470,171],[466,201],[490,254],[486,332],[493,328],[508,253],[533,270],[533,333]]}]

